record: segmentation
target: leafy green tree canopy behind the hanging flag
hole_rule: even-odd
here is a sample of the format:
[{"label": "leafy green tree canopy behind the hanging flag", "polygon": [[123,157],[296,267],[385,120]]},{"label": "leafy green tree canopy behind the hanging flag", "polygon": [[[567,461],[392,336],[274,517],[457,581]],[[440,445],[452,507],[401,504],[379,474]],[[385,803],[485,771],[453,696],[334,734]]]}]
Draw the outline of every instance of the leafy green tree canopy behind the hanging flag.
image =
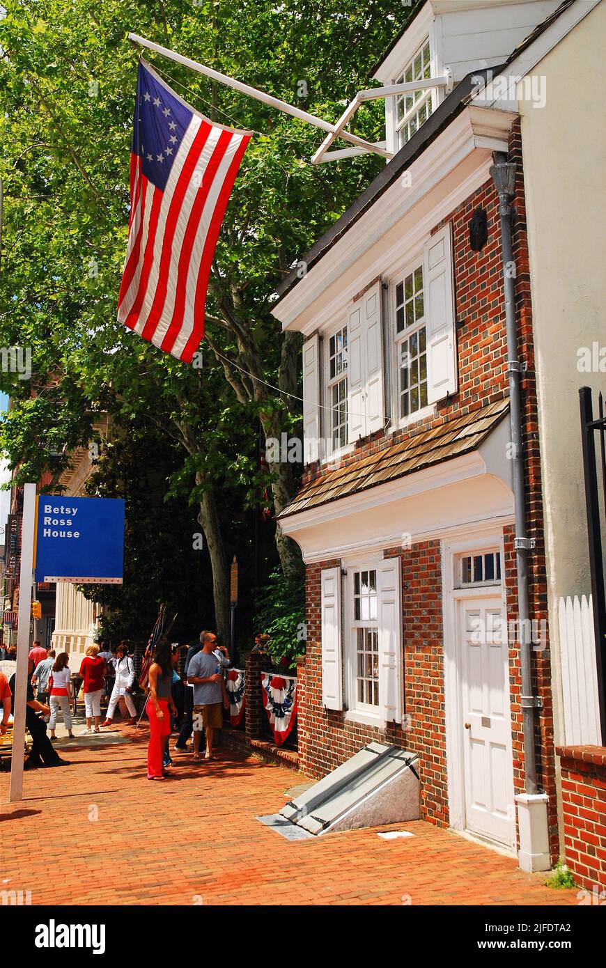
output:
[{"label": "leafy green tree canopy behind the hanging flag", "polygon": [[[317,129],[149,55],[198,110],[256,133],[213,264],[202,367],[173,359],[116,320],[140,53],[127,35],[335,120],[370,85],[370,68],[410,13],[398,0],[15,0],[0,20],[0,344],[29,348],[32,370],[29,379],[0,374],[11,396],[0,448],[25,481],[49,468],[56,479],[94,437],[102,410],[141,454],[165,440],[162,486],[167,499],[197,502],[224,630],[226,535],[233,545],[225,509],[252,506],[269,486],[279,512],[297,486],[291,465],[268,474],[257,465],[259,425],[265,437],[300,433],[300,340],[271,317],[274,289],[382,163],[364,156],[311,166]],[[379,139],[382,104],[365,107],[356,126]],[[123,472],[112,471],[114,493],[131,459],[124,451]],[[279,529],[276,540],[285,574],[297,574],[298,551]]]}]

